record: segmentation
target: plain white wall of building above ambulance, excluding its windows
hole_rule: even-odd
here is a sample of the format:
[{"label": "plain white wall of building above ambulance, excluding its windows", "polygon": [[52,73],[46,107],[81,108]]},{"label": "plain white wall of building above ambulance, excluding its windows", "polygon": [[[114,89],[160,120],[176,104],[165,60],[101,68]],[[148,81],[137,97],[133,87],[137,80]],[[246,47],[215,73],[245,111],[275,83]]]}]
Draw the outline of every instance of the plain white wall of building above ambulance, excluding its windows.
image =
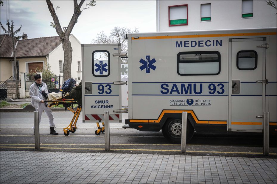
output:
[{"label": "plain white wall of building above ambulance, excluding its windows", "polygon": [[[211,3],[211,21],[201,22],[200,6],[207,3]],[[188,4],[188,25],[168,26],[168,6],[181,4]],[[157,31],[276,27],[276,9],[266,1],[253,1],[253,18],[241,18],[242,1],[156,1],[156,9]]]}]

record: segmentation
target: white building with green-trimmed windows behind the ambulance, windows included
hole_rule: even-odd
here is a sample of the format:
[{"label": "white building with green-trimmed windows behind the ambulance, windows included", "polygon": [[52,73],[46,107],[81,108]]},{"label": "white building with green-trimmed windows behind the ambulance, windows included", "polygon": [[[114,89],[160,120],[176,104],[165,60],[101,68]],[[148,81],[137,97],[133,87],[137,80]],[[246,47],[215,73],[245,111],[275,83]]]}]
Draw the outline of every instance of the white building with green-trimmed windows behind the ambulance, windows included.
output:
[{"label": "white building with green-trimmed windows behind the ambulance, windows included", "polygon": [[266,1],[156,1],[157,32],[276,28]]}]

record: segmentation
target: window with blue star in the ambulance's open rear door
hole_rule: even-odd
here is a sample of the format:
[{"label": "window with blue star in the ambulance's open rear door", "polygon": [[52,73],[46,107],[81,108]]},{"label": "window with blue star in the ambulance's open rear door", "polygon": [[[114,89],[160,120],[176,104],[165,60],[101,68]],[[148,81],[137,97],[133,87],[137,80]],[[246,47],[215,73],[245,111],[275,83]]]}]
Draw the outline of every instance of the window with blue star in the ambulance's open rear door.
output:
[{"label": "window with blue star in the ambulance's open rear door", "polygon": [[110,53],[107,50],[95,50],[92,53],[92,74],[94,77],[110,75]]}]

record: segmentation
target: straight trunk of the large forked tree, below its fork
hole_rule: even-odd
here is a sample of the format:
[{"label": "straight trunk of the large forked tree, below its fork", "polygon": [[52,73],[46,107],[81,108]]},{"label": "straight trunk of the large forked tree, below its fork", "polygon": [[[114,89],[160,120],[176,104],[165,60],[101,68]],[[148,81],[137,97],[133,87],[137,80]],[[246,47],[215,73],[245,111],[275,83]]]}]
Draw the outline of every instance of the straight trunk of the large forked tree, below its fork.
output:
[{"label": "straight trunk of the large forked tree, below its fork", "polygon": [[63,38],[61,40],[64,51],[63,81],[66,81],[71,78],[72,47],[68,38]]}]

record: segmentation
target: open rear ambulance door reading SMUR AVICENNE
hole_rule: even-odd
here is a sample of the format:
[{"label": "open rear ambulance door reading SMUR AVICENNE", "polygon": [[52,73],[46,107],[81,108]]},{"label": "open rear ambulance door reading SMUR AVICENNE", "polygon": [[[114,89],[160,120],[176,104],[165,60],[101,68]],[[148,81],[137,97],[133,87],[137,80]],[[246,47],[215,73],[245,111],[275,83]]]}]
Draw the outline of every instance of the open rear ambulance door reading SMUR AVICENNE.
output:
[{"label": "open rear ambulance door reading SMUR AVICENNE", "polygon": [[83,122],[103,122],[109,111],[110,122],[121,122],[120,44],[82,45]]}]

